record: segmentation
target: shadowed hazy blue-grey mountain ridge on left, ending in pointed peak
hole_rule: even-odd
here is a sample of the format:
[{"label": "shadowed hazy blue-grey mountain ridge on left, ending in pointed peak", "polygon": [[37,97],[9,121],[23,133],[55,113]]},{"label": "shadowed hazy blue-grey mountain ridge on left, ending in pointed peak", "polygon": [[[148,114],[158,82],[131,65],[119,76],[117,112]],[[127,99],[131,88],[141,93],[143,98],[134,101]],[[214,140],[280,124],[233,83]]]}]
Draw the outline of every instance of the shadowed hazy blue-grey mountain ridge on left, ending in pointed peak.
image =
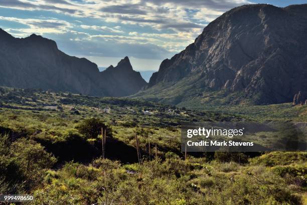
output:
[{"label": "shadowed hazy blue-grey mountain ridge on left, ending in pointed peak", "polygon": [[99,72],[95,63],[63,53],[52,40],[14,38],[0,29],[0,86],[126,96],[147,84],[127,57],[118,66]]}]

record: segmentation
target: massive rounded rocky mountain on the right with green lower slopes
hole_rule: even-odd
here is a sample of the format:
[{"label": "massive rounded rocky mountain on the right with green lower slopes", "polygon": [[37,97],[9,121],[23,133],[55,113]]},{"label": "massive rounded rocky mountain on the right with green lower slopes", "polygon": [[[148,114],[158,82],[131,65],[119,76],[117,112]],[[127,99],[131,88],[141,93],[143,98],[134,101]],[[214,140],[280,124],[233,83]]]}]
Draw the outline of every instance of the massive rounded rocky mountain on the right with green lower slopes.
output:
[{"label": "massive rounded rocky mountain on the right with green lower slopes", "polygon": [[164,60],[134,96],[183,105],[276,104],[307,91],[307,5],[246,5]]}]

